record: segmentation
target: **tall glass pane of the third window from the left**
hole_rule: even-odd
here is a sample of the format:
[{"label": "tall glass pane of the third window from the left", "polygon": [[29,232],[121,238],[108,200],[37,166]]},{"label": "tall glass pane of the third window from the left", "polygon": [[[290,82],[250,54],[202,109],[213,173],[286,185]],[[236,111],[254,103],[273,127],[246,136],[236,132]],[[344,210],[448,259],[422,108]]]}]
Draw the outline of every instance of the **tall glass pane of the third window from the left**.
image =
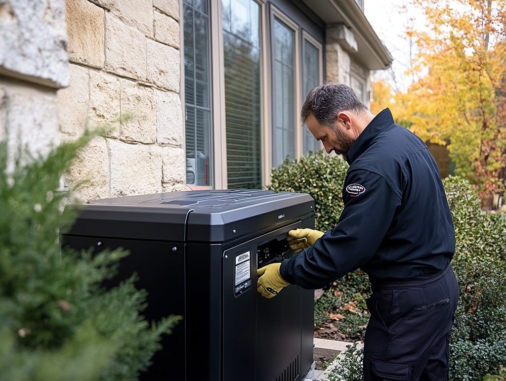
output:
[{"label": "tall glass pane of the third window from the left", "polygon": [[295,33],[277,18],[274,18],[272,33],[272,166],[275,167],[286,156],[295,157]]}]

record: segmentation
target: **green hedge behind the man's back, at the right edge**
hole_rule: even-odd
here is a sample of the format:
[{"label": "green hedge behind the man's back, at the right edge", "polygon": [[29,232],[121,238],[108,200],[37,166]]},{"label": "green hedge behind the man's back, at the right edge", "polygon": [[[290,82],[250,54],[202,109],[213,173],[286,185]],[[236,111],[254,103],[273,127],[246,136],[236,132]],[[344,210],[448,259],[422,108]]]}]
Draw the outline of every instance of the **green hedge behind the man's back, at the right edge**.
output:
[{"label": "green hedge behind the man's back, at the right edge", "polygon": [[481,209],[471,184],[444,179],[456,237],[459,303],[450,343],[450,379],[482,379],[506,363],[506,219]]}]

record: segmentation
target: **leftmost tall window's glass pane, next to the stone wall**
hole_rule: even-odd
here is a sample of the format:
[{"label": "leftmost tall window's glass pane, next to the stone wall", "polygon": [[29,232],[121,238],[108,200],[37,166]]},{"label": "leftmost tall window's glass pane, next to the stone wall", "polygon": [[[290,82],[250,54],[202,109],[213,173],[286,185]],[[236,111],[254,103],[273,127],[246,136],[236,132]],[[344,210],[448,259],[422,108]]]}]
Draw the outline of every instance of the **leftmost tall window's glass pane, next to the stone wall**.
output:
[{"label": "leftmost tall window's glass pane, next to the stone wall", "polygon": [[212,185],[210,32],[207,0],[184,0],[186,181]]}]

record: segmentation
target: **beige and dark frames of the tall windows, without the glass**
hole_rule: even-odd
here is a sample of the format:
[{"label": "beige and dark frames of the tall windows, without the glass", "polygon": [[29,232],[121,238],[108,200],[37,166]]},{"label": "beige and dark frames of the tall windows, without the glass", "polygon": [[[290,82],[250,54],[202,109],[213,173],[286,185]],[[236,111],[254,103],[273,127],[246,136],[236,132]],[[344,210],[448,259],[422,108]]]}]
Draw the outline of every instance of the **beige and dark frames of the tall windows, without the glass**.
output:
[{"label": "beige and dark frames of the tall windows, without the glass", "polygon": [[[324,29],[322,24],[314,24],[307,28],[308,21],[304,18],[305,14],[292,4],[287,4],[278,0],[251,0],[260,7],[260,107],[261,107],[261,142],[262,142],[262,183],[268,186],[271,183],[270,175],[272,171],[272,94],[268,91],[272,87],[272,69],[273,69],[273,45],[272,45],[272,22],[274,17],[280,20],[294,31],[294,107],[293,118],[294,129],[294,156],[299,159],[304,154],[304,128],[300,125],[300,110],[305,95],[303,92],[303,42],[309,41],[318,49],[319,53],[319,80],[323,83],[325,77],[325,52],[324,52]],[[183,2],[180,0],[181,9],[181,47],[184,49],[184,18]],[[273,4],[275,3],[275,4]],[[285,4],[287,9],[285,10]],[[192,189],[227,189],[228,171],[227,171],[227,135],[226,135],[226,110],[225,110],[225,75],[224,75],[224,47],[223,47],[223,25],[222,25],[222,0],[208,0],[209,20],[210,20],[210,81],[212,91],[210,101],[212,112],[212,160],[210,167],[213,168],[212,179],[209,186],[191,186]],[[282,9],[281,9],[282,8]],[[285,12],[286,11],[286,12]],[[300,15],[300,19],[299,19]],[[316,29],[319,28],[319,29]],[[312,32],[314,33],[312,33]],[[321,32],[320,32],[321,31]],[[320,41],[321,39],[321,41]],[[181,56],[181,91],[180,98],[183,110],[185,105],[185,74],[184,74],[184,51]],[[183,120],[185,123],[185,120]],[[186,126],[183,134],[183,147],[186,151]],[[185,154],[186,157],[186,154]]]}]

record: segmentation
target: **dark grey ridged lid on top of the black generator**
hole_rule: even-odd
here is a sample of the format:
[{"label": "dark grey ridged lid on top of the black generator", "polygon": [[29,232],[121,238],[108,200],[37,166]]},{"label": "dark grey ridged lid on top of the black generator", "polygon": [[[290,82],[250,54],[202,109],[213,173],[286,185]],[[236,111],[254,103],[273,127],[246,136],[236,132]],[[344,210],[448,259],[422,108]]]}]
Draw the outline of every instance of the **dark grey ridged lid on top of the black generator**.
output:
[{"label": "dark grey ridged lid on top of the black generator", "polygon": [[187,242],[222,242],[260,234],[314,215],[306,193],[195,190],[91,200],[73,205],[66,234]]}]

